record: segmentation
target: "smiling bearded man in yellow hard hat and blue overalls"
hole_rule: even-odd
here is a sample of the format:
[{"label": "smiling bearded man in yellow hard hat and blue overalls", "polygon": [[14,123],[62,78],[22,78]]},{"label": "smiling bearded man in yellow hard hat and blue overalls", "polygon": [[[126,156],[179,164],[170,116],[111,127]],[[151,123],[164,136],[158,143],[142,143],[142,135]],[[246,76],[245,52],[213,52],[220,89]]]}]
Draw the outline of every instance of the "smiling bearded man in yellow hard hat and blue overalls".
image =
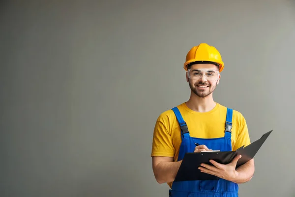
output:
[{"label": "smiling bearded man in yellow hard hat and blue overalls", "polygon": [[156,121],[152,168],[157,182],[170,186],[169,196],[237,197],[238,184],[249,181],[254,174],[253,159],[236,168],[241,157],[238,155],[230,164],[210,161],[212,165],[196,166],[203,173],[220,177],[218,180],[173,182],[186,152],[235,151],[250,144],[243,115],[213,100],[223,68],[215,47],[206,43],[193,47],[184,63],[190,98],[160,114]]}]

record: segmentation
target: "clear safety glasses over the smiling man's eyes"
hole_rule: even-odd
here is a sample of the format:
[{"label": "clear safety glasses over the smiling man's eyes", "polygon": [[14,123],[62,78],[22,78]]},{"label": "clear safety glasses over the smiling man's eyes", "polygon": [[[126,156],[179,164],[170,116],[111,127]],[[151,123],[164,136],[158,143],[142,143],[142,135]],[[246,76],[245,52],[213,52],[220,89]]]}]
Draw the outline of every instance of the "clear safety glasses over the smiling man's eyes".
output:
[{"label": "clear safety glasses over the smiling man's eyes", "polygon": [[209,68],[189,69],[187,70],[187,74],[192,80],[200,80],[203,76],[205,76],[205,81],[217,81],[219,77],[218,70]]}]

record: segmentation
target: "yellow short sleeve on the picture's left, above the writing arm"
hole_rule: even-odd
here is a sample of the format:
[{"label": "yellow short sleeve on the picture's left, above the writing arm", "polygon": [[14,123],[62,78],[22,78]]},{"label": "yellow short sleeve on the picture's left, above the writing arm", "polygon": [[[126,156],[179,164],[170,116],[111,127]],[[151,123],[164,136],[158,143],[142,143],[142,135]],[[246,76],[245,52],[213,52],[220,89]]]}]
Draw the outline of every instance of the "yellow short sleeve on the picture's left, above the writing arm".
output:
[{"label": "yellow short sleeve on the picture's left, above the writing arm", "polygon": [[[166,119],[168,119],[167,116]],[[156,121],[152,138],[151,157],[174,157],[175,155],[171,132],[168,131],[168,128],[170,128],[169,121],[166,119],[160,116]]]}]

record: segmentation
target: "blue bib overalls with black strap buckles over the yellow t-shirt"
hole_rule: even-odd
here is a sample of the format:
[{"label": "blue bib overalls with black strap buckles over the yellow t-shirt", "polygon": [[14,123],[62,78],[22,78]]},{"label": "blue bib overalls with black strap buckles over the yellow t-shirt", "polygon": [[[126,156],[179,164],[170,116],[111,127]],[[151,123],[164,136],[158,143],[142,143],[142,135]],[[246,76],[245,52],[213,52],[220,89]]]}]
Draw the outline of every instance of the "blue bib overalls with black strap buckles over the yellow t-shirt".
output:
[{"label": "blue bib overalls with black strap buckles over the yellow t-shirt", "polygon": [[[232,109],[227,108],[225,136],[211,139],[190,137],[187,125],[178,108],[174,107],[172,110],[180,125],[182,138],[178,161],[183,159],[186,152],[194,152],[195,143],[205,144],[209,149],[213,150],[232,151]],[[172,189],[169,190],[169,197],[238,197],[238,185],[221,178],[218,180],[173,182]]]}]

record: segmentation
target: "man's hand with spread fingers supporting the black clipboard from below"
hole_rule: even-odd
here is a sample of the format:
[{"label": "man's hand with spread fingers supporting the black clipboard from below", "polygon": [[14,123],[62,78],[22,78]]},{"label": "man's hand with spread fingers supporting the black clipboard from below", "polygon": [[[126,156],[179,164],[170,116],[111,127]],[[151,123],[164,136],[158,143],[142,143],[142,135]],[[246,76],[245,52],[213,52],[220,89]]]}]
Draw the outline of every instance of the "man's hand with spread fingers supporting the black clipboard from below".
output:
[{"label": "man's hand with spread fingers supporting the black clipboard from below", "polygon": [[241,155],[237,155],[229,164],[219,164],[213,160],[210,160],[209,162],[213,164],[213,166],[201,164],[199,169],[201,172],[211,174],[228,181],[234,181],[238,176],[238,172],[236,171],[236,163],[241,157]]}]

